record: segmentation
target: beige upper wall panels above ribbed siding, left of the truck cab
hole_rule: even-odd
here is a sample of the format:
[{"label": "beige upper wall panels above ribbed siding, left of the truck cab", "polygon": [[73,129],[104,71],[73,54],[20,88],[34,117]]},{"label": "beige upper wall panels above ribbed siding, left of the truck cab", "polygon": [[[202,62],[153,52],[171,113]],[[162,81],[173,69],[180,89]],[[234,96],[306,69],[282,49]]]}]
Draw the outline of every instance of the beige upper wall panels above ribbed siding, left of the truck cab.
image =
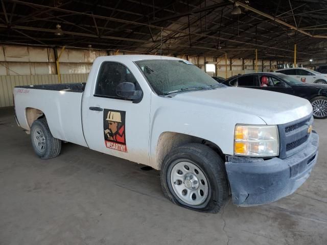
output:
[{"label": "beige upper wall panels above ribbed siding, left of the truck cab", "polygon": [[[0,45],[0,75],[57,74],[55,53],[61,48]],[[61,74],[86,74],[101,50],[65,48],[60,57]]]}]

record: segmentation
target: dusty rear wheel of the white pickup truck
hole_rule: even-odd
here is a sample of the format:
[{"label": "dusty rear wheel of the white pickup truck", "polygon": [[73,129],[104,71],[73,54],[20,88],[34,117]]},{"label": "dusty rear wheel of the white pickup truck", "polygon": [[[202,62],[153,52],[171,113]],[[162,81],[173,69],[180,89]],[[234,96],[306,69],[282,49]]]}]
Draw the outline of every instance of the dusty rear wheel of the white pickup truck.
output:
[{"label": "dusty rear wheel of the white pickup truck", "polygon": [[[38,142],[39,135],[42,135],[42,143]],[[36,139],[37,137],[39,138]],[[31,127],[31,141],[36,155],[41,159],[54,158],[60,154],[61,140],[52,136],[45,117],[33,122]],[[42,146],[38,144],[42,144]]]}]

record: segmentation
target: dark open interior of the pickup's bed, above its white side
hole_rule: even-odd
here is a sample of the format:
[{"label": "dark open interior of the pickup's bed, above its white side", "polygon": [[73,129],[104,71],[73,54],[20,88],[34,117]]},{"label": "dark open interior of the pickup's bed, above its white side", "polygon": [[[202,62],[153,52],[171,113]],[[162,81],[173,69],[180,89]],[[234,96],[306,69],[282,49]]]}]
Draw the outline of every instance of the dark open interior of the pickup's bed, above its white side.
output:
[{"label": "dark open interior of the pickup's bed, above its white side", "polygon": [[82,93],[85,89],[85,84],[86,83],[42,84],[42,85],[16,86],[15,88],[43,89],[43,90]]}]

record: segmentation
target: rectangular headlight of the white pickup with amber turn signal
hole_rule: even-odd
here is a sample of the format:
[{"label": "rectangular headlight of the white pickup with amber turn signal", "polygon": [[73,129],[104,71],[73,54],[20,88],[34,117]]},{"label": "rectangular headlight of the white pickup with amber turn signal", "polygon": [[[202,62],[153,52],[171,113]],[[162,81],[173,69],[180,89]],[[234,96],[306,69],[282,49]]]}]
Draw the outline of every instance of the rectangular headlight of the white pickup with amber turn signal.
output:
[{"label": "rectangular headlight of the white pickup with amber turn signal", "polygon": [[276,125],[235,126],[234,154],[250,157],[279,155],[279,137]]}]

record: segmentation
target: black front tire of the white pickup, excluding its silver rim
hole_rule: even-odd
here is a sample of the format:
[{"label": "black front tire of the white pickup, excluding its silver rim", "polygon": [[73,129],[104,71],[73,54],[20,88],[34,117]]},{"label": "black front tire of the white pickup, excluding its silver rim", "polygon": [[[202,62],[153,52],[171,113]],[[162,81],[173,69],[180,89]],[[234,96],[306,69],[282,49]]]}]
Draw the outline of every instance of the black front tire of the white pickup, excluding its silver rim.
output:
[{"label": "black front tire of the white pickup, excluding its silver rim", "polygon": [[[189,205],[183,202],[172,187],[172,169],[178,162],[185,160],[198,166],[208,183],[206,200],[200,205]],[[166,197],[173,203],[188,209],[218,213],[228,199],[225,163],[215,151],[203,144],[188,143],[174,149],[162,162],[160,179]]]}]

